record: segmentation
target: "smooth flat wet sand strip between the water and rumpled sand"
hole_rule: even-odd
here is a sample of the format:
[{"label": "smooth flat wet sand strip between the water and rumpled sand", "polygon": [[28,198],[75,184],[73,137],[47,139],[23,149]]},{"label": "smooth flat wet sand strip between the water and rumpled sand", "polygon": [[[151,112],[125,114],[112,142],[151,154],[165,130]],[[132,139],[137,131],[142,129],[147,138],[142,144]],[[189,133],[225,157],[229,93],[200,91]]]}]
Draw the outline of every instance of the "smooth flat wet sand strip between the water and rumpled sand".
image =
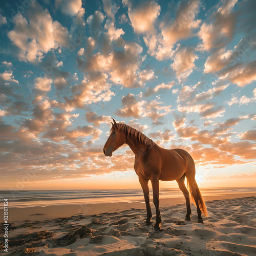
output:
[{"label": "smooth flat wet sand strip between the water and rumpled sand", "polygon": [[[214,195],[214,196],[204,196],[206,201],[208,200],[220,200],[220,199],[232,199],[232,198],[242,198],[256,196],[255,193],[241,193],[241,194],[227,194],[227,195]],[[118,202],[113,203],[113,199],[106,199],[106,203],[79,203],[79,204],[65,204],[65,205],[48,205],[48,206],[35,206],[35,207],[25,207],[25,208],[15,208],[9,202],[9,221],[41,221],[46,219],[67,217],[75,214],[83,215],[94,215],[101,214],[102,212],[115,212],[121,210],[127,210],[130,208],[141,208],[145,209],[144,198],[123,198],[119,199]],[[126,200],[126,201],[122,201]],[[153,201],[153,199],[151,199]],[[160,206],[174,205],[174,204],[185,204],[185,199],[183,196],[175,198],[161,198]],[[153,202],[151,202],[154,208]],[[3,216],[3,209],[0,209],[0,216]]]}]

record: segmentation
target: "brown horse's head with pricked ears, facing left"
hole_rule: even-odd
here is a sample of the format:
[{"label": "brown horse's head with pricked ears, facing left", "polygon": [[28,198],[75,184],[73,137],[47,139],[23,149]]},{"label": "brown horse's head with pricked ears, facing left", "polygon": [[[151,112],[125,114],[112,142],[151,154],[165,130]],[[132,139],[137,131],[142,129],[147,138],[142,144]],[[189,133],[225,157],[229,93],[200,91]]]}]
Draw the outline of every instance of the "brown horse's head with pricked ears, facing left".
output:
[{"label": "brown horse's head with pricked ears, facing left", "polygon": [[103,153],[107,157],[111,157],[112,153],[125,143],[125,136],[122,132],[118,131],[118,125],[114,118],[113,122],[114,123],[111,122],[112,128],[110,130],[110,137],[103,147]]}]

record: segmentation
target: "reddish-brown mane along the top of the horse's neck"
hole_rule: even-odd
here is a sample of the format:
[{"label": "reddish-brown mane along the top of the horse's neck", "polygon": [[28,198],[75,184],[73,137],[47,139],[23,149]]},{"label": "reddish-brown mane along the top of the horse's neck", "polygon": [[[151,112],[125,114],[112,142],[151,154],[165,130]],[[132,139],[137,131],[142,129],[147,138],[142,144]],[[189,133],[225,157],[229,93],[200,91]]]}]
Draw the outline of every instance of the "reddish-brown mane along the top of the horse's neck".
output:
[{"label": "reddish-brown mane along the top of the horse's neck", "polygon": [[[152,139],[147,138],[145,134],[143,134],[142,132],[136,130],[135,128],[127,124],[117,123],[117,129],[118,131],[123,131],[126,138],[130,138],[133,140],[136,139],[142,145],[154,146],[155,144],[155,142]],[[114,127],[112,126],[110,132],[113,132],[113,131],[114,131]]]}]

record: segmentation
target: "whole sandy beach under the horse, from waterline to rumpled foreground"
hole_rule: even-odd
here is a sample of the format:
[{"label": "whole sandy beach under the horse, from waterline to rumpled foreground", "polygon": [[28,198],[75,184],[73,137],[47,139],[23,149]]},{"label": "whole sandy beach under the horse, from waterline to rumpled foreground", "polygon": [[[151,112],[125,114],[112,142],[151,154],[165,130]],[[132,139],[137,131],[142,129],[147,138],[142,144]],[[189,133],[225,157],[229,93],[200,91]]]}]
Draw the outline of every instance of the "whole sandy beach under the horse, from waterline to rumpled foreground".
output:
[{"label": "whole sandy beach under the horse, from waterline to rumpled foreground", "polygon": [[[240,195],[243,196],[243,195]],[[184,221],[185,205],[161,201],[162,229],[144,224],[143,202],[48,206],[11,221],[5,255],[256,255],[256,197],[206,199],[209,217]],[[236,197],[236,198],[234,198]],[[180,199],[179,201],[180,202]],[[176,203],[176,204],[175,204]],[[63,208],[62,208],[63,207]],[[58,210],[57,210],[58,209]],[[66,210],[65,210],[66,209]],[[89,214],[84,214],[86,210]],[[52,211],[52,212],[50,212]],[[72,215],[72,211],[76,214]],[[61,212],[61,214],[60,214]],[[58,218],[56,215],[59,215]],[[153,208],[152,223],[155,216]],[[3,234],[2,234],[3,235]]]}]

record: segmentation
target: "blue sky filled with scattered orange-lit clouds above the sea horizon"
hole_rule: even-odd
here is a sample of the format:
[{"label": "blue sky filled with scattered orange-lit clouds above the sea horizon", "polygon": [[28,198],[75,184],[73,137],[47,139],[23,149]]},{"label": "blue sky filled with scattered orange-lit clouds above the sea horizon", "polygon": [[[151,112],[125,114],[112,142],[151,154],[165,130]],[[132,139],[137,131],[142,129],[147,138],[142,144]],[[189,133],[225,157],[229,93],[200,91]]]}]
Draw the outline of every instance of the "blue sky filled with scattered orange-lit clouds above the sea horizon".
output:
[{"label": "blue sky filled with scattered orange-lit clouds above the sea horizon", "polygon": [[187,150],[201,187],[254,186],[255,9],[1,1],[1,188],[140,187],[129,147],[102,153],[111,118]]}]

